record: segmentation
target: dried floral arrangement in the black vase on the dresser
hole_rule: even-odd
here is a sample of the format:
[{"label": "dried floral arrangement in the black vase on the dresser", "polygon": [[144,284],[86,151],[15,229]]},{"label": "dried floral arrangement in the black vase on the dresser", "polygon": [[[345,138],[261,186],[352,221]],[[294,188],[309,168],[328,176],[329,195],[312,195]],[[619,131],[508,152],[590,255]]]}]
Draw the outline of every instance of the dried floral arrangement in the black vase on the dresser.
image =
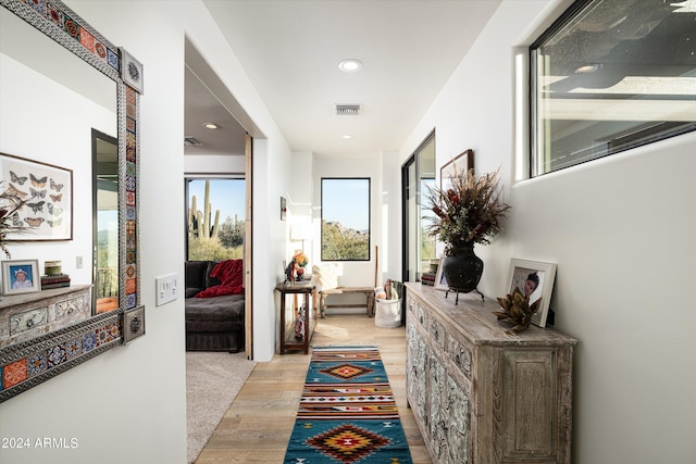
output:
[{"label": "dried floral arrangement in the black vase on the dresser", "polygon": [[439,236],[447,244],[447,255],[455,247],[490,243],[490,239],[502,230],[501,221],[510,210],[500,198],[500,167],[478,177],[473,170],[464,172],[456,165],[453,170],[448,187],[428,188],[425,198],[435,216],[423,217],[431,222],[426,226],[427,234]]}]

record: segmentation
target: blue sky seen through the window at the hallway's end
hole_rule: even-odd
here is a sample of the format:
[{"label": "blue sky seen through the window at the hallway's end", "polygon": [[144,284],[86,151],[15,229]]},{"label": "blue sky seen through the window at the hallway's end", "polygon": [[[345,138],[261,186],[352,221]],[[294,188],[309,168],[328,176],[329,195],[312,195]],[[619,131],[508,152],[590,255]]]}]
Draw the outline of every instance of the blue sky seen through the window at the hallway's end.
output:
[{"label": "blue sky seen through the window at the hallway's end", "polygon": [[322,220],[344,227],[370,227],[369,179],[322,179]]}]

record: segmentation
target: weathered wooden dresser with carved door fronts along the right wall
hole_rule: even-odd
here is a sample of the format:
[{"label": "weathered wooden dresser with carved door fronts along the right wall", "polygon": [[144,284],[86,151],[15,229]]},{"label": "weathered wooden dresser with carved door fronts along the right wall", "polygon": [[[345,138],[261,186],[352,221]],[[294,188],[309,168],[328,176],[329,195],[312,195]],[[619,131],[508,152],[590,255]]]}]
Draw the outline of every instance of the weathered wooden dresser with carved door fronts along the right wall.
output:
[{"label": "weathered wooden dresser with carved door fronts along the right wall", "polygon": [[434,463],[571,462],[573,347],[497,302],[407,283],[407,394]]}]

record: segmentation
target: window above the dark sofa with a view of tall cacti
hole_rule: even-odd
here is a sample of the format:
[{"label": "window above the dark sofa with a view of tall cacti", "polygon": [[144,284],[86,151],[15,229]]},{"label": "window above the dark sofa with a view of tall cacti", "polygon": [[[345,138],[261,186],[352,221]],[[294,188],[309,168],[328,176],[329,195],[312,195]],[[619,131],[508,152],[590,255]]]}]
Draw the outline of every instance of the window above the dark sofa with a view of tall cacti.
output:
[{"label": "window above the dark sofa with a view of tall cacti", "polygon": [[187,259],[244,258],[245,180],[186,179]]}]

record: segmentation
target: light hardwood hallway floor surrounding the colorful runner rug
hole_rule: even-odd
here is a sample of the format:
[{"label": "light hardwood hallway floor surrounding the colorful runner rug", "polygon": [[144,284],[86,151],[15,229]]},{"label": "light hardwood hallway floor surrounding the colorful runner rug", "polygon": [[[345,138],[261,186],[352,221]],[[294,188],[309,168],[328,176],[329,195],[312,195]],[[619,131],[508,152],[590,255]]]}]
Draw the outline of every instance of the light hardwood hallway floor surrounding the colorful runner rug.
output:
[{"label": "light hardwood hallway floor surrounding the colorful runner rug", "polygon": [[[396,396],[414,464],[432,463],[406,402],[406,330],[375,327],[364,314],[327,314],[312,344],[377,344]],[[295,425],[310,355],[276,354],[258,363],[196,464],[282,463]]]}]

